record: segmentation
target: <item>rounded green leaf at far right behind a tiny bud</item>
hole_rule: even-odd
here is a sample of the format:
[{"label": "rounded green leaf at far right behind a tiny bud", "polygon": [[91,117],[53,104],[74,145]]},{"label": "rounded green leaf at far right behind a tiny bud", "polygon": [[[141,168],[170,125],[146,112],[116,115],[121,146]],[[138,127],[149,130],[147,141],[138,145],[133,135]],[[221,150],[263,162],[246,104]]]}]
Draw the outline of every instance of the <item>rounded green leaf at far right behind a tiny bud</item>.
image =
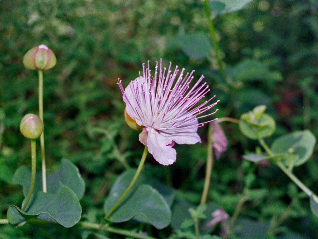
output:
[{"label": "rounded green leaf at far right behind a tiny bud", "polygon": [[316,138],[313,133],[303,130],[277,138],[271,145],[271,150],[275,154],[286,153],[283,157],[285,165],[299,166],[311,157],[315,144]]}]

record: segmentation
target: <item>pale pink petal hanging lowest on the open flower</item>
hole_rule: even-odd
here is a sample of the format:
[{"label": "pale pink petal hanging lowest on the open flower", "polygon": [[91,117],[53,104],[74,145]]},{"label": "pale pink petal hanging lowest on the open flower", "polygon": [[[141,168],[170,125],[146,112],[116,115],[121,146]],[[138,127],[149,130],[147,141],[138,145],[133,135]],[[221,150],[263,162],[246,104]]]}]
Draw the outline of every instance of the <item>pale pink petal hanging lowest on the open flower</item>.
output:
[{"label": "pale pink petal hanging lowest on the open flower", "polygon": [[147,127],[148,139],[147,146],[149,153],[154,156],[158,163],[162,165],[173,164],[176,161],[176,150],[169,144],[172,141],[168,137],[159,134],[154,128]]}]

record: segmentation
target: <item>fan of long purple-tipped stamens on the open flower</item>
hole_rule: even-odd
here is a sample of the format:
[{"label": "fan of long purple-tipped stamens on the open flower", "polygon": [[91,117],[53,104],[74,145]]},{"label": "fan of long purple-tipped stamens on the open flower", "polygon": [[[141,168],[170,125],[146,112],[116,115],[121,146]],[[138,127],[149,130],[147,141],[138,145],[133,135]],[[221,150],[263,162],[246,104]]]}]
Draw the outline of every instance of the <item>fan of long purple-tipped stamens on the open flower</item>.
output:
[{"label": "fan of long purple-tipped stamens on the open flower", "polygon": [[[171,62],[168,69],[165,67],[162,69],[162,60],[160,60],[159,72],[158,62],[156,62],[155,75],[151,76],[148,61],[146,69],[145,64],[143,64],[143,75],[139,73],[139,78],[136,81],[131,81],[128,86],[134,99],[128,98],[121,81],[118,80],[123,96],[134,110],[135,118],[138,118],[143,126],[154,127],[156,130],[165,132],[187,131],[215,120],[198,123],[197,119],[211,116],[217,111],[203,114],[215,106],[218,101],[210,103],[215,97],[214,95],[199,103],[210,91],[209,86],[206,82],[200,85],[204,79],[202,75],[190,88],[194,71],[186,73],[183,77],[184,70],[183,68],[179,74],[179,69],[176,66],[172,72]],[[132,100],[135,102],[131,102]],[[133,105],[137,106],[133,107]]]}]

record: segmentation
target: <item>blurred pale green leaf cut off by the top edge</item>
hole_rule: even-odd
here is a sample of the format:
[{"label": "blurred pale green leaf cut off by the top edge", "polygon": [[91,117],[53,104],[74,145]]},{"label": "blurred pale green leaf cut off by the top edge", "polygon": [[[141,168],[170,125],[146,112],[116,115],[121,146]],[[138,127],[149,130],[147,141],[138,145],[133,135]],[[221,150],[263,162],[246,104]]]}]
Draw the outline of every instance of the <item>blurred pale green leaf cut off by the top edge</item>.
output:
[{"label": "blurred pale green leaf cut off by the top edge", "polygon": [[239,11],[252,2],[252,0],[210,0],[209,6],[211,8],[212,15],[220,15],[227,12]]}]

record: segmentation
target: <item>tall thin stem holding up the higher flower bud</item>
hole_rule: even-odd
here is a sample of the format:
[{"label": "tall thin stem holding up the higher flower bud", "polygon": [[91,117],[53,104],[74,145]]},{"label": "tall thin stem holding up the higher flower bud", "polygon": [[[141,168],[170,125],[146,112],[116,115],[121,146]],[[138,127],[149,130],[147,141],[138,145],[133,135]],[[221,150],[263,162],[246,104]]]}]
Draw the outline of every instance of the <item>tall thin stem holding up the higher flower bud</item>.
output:
[{"label": "tall thin stem holding up the higher flower bud", "polygon": [[[38,71],[39,75],[39,116],[42,122],[43,120],[43,71]],[[45,166],[45,148],[44,148],[44,130],[40,136],[40,144],[41,144],[41,158],[42,158],[42,187],[43,192],[47,192],[46,188],[46,166]]]}]

